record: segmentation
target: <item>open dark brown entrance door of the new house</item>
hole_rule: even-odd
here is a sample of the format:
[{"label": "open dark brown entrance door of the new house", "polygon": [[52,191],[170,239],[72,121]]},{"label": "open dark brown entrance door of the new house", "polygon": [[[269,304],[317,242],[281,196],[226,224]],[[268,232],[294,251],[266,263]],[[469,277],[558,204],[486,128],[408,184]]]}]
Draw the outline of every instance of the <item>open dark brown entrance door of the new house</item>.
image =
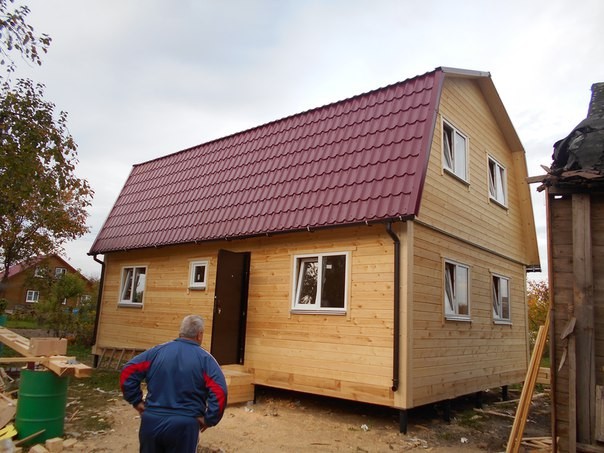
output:
[{"label": "open dark brown entrance door of the new house", "polygon": [[243,363],[249,269],[249,252],[218,251],[211,352],[220,365]]}]

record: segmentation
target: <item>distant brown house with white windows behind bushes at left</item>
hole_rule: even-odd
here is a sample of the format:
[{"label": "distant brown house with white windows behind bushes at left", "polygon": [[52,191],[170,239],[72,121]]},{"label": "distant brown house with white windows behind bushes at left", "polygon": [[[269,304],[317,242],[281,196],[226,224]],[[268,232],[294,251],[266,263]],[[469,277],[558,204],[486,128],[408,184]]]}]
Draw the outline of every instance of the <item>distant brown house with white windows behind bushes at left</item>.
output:
[{"label": "distant brown house with white windows behind bushes at left", "polygon": [[[1,295],[8,300],[7,310],[33,307],[38,303],[40,294],[44,294],[48,277],[56,278],[66,273],[77,274],[91,290],[91,282],[56,254],[38,256],[11,266],[8,270],[8,280],[4,285],[4,293]],[[89,298],[91,294],[82,297]],[[75,306],[78,302],[79,300],[66,300],[65,304]]]}]

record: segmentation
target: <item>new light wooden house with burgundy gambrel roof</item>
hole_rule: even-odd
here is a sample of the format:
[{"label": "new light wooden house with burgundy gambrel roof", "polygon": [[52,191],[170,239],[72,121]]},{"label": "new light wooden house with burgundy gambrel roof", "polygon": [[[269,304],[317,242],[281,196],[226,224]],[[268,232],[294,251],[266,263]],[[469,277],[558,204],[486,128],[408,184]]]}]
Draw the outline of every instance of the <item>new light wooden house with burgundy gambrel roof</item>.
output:
[{"label": "new light wooden house with burgundy gambrel roof", "polygon": [[135,165],[89,252],[95,352],[199,313],[253,384],[405,415],[521,382],[526,177],[490,74],[451,68]]}]

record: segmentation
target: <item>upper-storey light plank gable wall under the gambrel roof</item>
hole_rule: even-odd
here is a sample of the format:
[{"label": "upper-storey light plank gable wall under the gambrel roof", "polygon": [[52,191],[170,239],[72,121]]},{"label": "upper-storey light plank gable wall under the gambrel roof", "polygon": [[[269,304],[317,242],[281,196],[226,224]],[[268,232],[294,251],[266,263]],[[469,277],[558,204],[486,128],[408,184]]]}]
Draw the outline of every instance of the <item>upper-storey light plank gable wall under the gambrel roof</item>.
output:
[{"label": "upper-storey light plank gable wall under the gambrel roof", "polygon": [[[468,184],[443,170],[442,121],[468,137]],[[507,173],[507,209],[489,200],[488,156]],[[528,236],[520,209],[527,186],[524,156],[509,149],[477,83],[446,78],[434,130],[428,174],[418,220],[446,230],[519,262],[529,263],[536,245]],[[518,167],[518,168],[516,168]],[[534,235],[534,233],[533,233]]]}]

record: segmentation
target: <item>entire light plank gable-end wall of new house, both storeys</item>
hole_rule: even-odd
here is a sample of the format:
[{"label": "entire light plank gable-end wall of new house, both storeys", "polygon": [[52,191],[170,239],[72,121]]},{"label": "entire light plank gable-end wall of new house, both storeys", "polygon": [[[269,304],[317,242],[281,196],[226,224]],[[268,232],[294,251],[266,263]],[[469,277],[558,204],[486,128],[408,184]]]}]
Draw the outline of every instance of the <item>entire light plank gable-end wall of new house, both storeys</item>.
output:
[{"label": "entire light plank gable-end wall of new house, both storeys", "polygon": [[[468,138],[467,182],[443,170],[443,120]],[[414,235],[414,406],[524,379],[529,360],[524,265],[532,264],[527,250],[534,244],[525,240],[524,156],[516,154],[476,82],[445,79]],[[489,199],[489,156],[506,169],[506,207]],[[471,268],[471,323],[444,321],[444,258]],[[510,277],[511,326],[493,323],[491,272]]]}]

